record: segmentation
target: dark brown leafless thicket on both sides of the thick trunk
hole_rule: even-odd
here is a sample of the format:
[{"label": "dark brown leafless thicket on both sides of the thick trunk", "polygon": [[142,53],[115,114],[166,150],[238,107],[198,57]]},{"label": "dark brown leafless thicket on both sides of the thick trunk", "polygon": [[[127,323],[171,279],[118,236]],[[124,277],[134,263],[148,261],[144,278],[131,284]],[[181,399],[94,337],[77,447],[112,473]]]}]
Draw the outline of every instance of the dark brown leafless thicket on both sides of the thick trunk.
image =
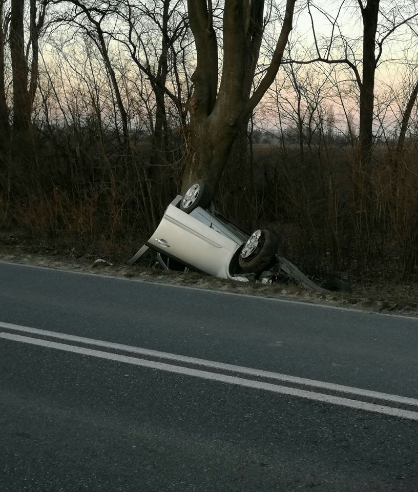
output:
[{"label": "dark brown leafless thicket on both sides of the thick trunk", "polygon": [[[99,136],[94,125],[51,132],[36,135],[34,172],[3,158],[2,229],[128,256],[180,189],[181,136],[174,135],[171,151],[152,165],[156,150],[146,136],[126,145],[114,135]],[[302,155],[291,142],[253,144],[245,161],[232,154],[217,208],[248,229],[278,228],[282,253],[310,273],[358,273],[387,261],[407,279],[418,251],[415,145],[408,142],[397,162],[390,146],[375,148],[366,172],[357,166],[355,148],[332,141],[305,147]]]}]

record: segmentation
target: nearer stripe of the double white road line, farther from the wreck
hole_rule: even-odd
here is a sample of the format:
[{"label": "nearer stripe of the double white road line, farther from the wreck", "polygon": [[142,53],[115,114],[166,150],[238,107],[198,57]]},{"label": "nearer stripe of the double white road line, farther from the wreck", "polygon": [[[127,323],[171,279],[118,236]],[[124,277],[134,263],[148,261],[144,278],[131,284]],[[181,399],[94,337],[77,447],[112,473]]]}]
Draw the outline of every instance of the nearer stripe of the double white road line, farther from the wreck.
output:
[{"label": "nearer stripe of the double white road line, farther from the wreck", "polygon": [[16,342],[29,343],[31,345],[38,345],[47,348],[55,348],[65,352],[73,352],[75,354],[89,355],[91,357],[98,357],[101,359],[114,360],[118,362],[124,362],[127,364],[138,365],[142,367],[149,367],[160,371],[168,371],[171,373],[182,374],[185,376],[194,376],[202,379],[209,379],[212,381],[220,381],[228,384],[235,384],[238,386],[244,386],[249,388],[264,389],[273,393],[280,393],[283,395],[296,396],[300,398],[306,398],[309,400],[320,401],[324,403],[331,403],[333,405],[347,406],[349,408],[356,408],[359,410],[365,410],[368,412],[374,412],[379,414],[390,415],[393,417],[401,417],[409,420],[418,420],[418,412],[411,412],[409,410],[403,410],[401,408],[392,408],[390,406],[376,405],[374,403],[367,403],[364,401],[350,400],[348,398],[340,398],[332,395],[324,395],[322,393],[315,393],[305,391],[304,389],[291,388],[287,386],[279,386],[277,384],[264,383],[261,381],[254,381],[250,379],[238,378],[235,376],[226,376],[224,374],[210,373],[208,371],[200,371],[198,369],[191,369],[189,367],[181,367],[178,365],[165,364],[163,362],[155,362],[152,360],[138,359],[136,357],[128,357],[125,355],[112,354],[110,352],[102,352],[93,350],[92,348],[78,347],[74,345],[67,345],[65,343],[50,342],[48,340],[41,340],[38,338],[24,337],[21,335],[13,335],[11,333],[0,333],[0,338],[7,340],[13,340]]}]

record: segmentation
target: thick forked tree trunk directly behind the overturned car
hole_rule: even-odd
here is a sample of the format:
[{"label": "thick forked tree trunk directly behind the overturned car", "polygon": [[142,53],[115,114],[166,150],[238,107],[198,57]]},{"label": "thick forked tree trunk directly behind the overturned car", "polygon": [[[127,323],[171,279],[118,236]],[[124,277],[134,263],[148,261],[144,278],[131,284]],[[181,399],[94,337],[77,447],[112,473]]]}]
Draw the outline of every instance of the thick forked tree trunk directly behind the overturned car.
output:
[{"label": "thick forked tree trunk directly behind the overturned car", "polygon": [[264,32],[264,0],[225,0],[222,17],[222,67],[218,84],[220,42],[214,28],[212,0],[187,0],[196,45],[194,92],[190,111],[190,152],[183,191],[202,179],[212,193],[237,134],[275,80],[292,29],[296,0],[286,0],[283,22],[270,63],[253,90]]}]

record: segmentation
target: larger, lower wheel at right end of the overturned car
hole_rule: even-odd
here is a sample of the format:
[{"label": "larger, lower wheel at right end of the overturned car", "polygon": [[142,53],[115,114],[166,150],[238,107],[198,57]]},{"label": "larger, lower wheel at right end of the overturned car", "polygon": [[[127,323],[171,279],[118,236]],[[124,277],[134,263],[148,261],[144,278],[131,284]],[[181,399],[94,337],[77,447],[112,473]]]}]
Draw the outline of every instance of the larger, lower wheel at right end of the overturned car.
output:
[{"label": "larger, lower wheel at right end of the overturned car", "polygon": [[258,229],[248,238],[241,250],[238,263],[244,272],[260,273],[269,267],[279,247],[276,234]]}]

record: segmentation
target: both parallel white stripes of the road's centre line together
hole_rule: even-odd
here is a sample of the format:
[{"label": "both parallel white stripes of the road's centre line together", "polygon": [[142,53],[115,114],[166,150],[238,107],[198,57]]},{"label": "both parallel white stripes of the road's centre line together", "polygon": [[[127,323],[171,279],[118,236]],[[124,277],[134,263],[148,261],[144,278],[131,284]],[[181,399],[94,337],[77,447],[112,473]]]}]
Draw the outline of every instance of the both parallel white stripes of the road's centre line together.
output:
[{"label": "both parallel white stripes of the road's centre line together", "polygon": [[[15,333],[1,332],[0,338],[5,340],[29,343],[31,345],[38,345],[47,348],[55,348],[56,350],[61,350],[65,352],[73,352],[76,354],[88,355],[91,357],[98,357],[101,359],[108,359],[142,367],[150,367],[160,371],[168,371],[185,376],[193,376],[202,379],[209,379],[212,381],[220,381],[223,383],[235,384],[238,386],[249,388],[264,389],[265,391],[270,391],[273,393],[296,396],[309,400],[330,403],[333,405],[341,405],[349,408],[356,408],[368,412],[391,415],[394,417],[401,417],[410,420],[418,420],[418,400],[414,398],[390,395],[387,393],[369,391],[368,389],[327,383],[324,381],[316,381],[313,379],[299,378],[296,376],[288,376],[286,374],[278,374],[269,371],[252,369],[249,367],[224,364],[222,362],[215,362],[211,360],[169,354],[165,352],[149,350],[147,348],[106,342],[103,340],[94,340],[91,338],[78,337],[75,335],[38,330],[36,328],[31,328],[28,326],[20,326],[16,324],[0,322],[0,329],[1,328],[11,332],[19,332],[32,335],[23,336],[16,335]],[[75,342],[78,345],[55,342],[45,338]],[[80,346],[80,344],[105,348],[107,349],[107,351],[95,350],[86,346]],[[115,352],[110,352],[109,350],[142,355],[152,359],[174,361],[176,362],[176,364],[169,364],[166,362],[160,362],[159,360],[143,359],[129,355],[123,355]],[[196,366],[211,368],[216,372],[202,370],[201,368],[196,368]],[[231,373],[234,375],[232,375]],[[248,377],[251,377],[252,379],[249,379]],[[267,382],[266,380],[273,382]],[[289,385],[284,386],[276,384],[276,381],[287,383]],[[311,391],[311,389],[304,388],[319,388],[328,393],[319,393],[316,391]],[[363,400],[341,397],[337,396],[336,394],[345,394],[347,396],[359,397]],[[364,401],[364,399],[366,401]],[[392,403],[392,406],[376,403],[377,401],[382,401],[386,403],[390,402]],[[402,407],[399,408],[399,406]],[[408,409],[408,407],[412,407],[413,409]]]}]

